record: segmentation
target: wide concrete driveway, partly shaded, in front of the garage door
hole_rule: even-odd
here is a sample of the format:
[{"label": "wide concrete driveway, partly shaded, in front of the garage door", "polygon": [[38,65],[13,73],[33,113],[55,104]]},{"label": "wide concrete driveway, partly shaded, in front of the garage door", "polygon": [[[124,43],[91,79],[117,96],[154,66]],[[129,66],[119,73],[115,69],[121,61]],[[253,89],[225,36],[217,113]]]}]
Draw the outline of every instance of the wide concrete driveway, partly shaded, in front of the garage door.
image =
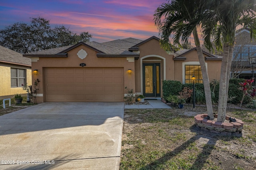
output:
[{"label": "wide concrete driveway, partly shaded, in front of the garage door", "polygon": [[118,170],[123,117],[121,102],[42,103],[0,116],[0,169]]}]

